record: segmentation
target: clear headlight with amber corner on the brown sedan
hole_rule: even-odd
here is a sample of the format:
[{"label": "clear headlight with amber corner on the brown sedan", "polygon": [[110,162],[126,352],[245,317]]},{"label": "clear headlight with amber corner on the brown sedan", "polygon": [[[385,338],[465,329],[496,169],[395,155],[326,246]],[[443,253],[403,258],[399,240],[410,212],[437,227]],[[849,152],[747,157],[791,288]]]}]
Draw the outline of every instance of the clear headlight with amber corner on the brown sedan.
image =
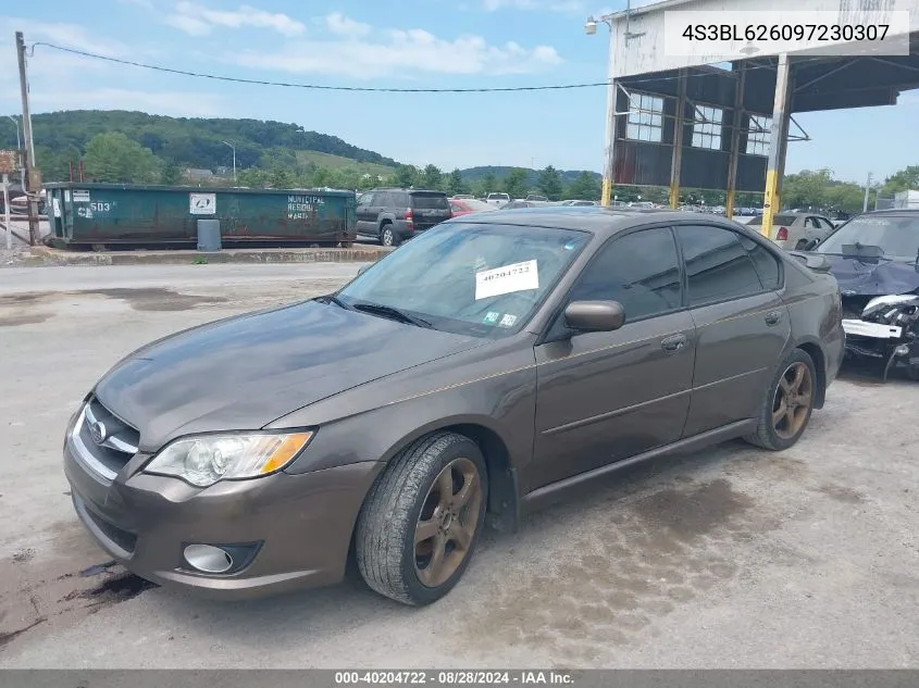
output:
[{"label": "clear headlight with amber corner on the brown sedan", "polygon": [[189,437],[169,445],[144,472],[175,476],[197,487],[257,478],[286,466],[312,437],[312,431]]}]

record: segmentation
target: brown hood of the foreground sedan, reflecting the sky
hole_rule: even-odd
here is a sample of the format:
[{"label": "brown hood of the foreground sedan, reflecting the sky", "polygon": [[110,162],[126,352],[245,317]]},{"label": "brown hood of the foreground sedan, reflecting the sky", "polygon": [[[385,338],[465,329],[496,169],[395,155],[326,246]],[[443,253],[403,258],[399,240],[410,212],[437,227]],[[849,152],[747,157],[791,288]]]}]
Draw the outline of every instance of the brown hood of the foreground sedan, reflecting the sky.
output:
[{"label": "brown hood of the foreground sedan, reflecting the sky", "polygon": [[97,384],[154,451],[191,433],[261,428],[297,409],[485,340],[307,301],[193,328]]}]

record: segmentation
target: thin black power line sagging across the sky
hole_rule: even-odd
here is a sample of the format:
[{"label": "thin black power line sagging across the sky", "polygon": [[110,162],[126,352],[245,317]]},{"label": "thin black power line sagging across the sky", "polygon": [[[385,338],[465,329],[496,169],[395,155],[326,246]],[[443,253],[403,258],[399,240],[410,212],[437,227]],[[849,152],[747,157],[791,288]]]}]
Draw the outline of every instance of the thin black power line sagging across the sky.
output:
[{"label": "thin black power line sagging across the sky", "polygon": [[[44,46],[53,50],[69,52],[71,54],[80,55],[83,58],[90,58],[92,60],[102,60],[104,62],[114,62],[116,64],[124,64],[133,67],[140,67],[144,70],[152,70],[154,72],[165,72],[167,74],[178,74],[181,76],[191,76],[196,78],[212,79],[215,82],[232,82],[234,84],[250,84],[254,86],[278,86],[283,88],[303,88],[310,90],[326,90],[326,91],[359,91],[359,92],[374,92],[374,93],[496,93],[496,92],[518,92],[518,91],[548,91],[548,90],[570,90],[575,88],[596,88],[599,86],[609,86],[609,82],[592,82],[586,84],[557,84],[548,86],[505,86],[505,87],[483,87],[483,88],[386,88],[386,87],[371,87],[371,86],[323,86],[321,84],[296,84],[290,82],[270,82],[264,79],[247,79],[236,76],[223,76],[220,74],[207,74],[203,72],[189,72],[186,70],[174,70],[172,67],[164,67],[156,64],[145,64],[142,62],[135,62],[134,60],[122,60],[120,58],[112,58],[109,55],[100,55],[85,50],[76,50],[75,48],[65,48],[63,46],[55,46],[54,43],[35,42],[32,45],[33,53],[35,48]],[[750,65],[747,71],[774,68],[772,65]],[[688,74],[686,77],[705,77],[708,74]],[[679,79],[679,75],[674,76],[651,76],[648,78],[629,78],[629,85],[644,84],[650,82],[670,82]]]}]

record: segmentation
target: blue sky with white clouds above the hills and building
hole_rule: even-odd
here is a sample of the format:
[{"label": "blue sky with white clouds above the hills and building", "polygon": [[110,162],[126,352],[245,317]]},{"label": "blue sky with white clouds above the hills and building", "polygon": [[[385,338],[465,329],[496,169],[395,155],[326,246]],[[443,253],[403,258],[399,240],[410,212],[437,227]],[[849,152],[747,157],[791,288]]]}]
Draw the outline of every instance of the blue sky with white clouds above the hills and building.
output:
[{"label": "blue sky with white clouds above the hills and building", "polygon": [[[641,3],[636,0],[633,3]],[[14,32],[26,42],[178,70],[328,86],[471,88],[604,82],[608,39],[588,14],[624,0],[30,0],[0,8],[0,113],[20,110]],[[297,123],[399,162],[444,170],[603,167],[605,89],[360,93],[229,84],[37,46],[33,112],[141,110]],[[919,164],[919,91],[896,107],[796,115],[810,141],[786,172],[864,182]],[[13,124],[0,117],[0,126]],[[40,141],[39,141],[40,142]]]}]

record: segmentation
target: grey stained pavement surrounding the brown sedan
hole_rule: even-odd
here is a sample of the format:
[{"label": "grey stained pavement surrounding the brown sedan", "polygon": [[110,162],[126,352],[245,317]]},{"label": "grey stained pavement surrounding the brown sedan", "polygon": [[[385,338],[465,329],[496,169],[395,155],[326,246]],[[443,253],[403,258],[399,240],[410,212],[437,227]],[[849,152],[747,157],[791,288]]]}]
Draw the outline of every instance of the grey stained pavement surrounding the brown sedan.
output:
[{"label": "grey stained pavement surrounding the brown sedan", "polygon": [[94,380],[150,339],[358,267],[0,271],[0,666],[919,665],[919,387],[904,381],[836,383],[785,453],[643,466],[489,534],[423,610],[358,580],[202,602],[110,566],[60,467]]}]

